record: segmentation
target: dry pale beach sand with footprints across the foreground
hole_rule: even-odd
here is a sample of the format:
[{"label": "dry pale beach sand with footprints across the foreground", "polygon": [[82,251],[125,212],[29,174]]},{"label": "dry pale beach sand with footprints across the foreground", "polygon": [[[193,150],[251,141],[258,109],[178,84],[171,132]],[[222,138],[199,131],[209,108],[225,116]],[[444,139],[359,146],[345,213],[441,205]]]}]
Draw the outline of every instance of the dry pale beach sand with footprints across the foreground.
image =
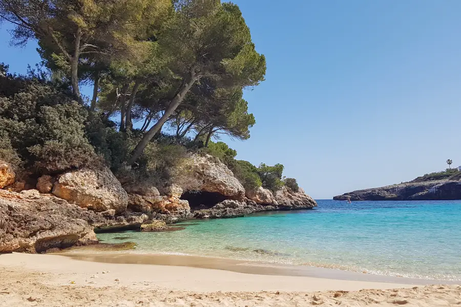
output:
[{"label": "dry pale beach sand with footprints across the foreground", "polygon": [[461,287],[0,255],[0,306],[311,305],[461,306]]}]

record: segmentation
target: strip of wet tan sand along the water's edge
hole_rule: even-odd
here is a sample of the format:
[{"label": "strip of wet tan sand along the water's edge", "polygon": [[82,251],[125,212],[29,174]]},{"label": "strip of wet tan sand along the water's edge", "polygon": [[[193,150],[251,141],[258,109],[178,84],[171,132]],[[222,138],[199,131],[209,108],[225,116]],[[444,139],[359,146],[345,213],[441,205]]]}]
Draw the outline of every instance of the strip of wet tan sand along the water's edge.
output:
[{"label": "strip of wet tan sand along the water's edge", "polygon": [[[83,249],[90,248],[82,247]],[[384,283],[405,283],[413,285],[426,284],[461,284],[461,280],[444,280],[444,279],[422,279],[409,277],[396,277],[389,275],[378,275],[371,273],[358,273],[341,269],[297,266],[274,264],[263,261],[238,260],[232,258],[217,258],[207,256],[193,255],[175,255],[175,254],[136,254],[136,253],[88,253],[61,251],[51,255],[60,255],[75,260],[99,262],[107,264],[131,264],[131,265],[157,265],[157,266],[174,266],[188,267],[199,269],[212,269],[229,271],[235,273],[253,274],[253,275],[276,275],[276,276],[297,276],[326,278],[335,280],[351,281],[370,281]]]}]

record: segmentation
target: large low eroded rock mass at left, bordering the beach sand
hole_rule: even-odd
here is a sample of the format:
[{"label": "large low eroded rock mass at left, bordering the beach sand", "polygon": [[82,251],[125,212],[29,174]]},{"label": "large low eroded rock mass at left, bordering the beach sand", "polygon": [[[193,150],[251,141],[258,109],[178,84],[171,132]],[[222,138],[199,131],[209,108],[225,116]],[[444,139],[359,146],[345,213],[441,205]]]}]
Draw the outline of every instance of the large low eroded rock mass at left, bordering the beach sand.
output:
[{"label": "large low eroded rock mass at left, bordering the beach sand", "polygon": [[0,253],[40,253],[96,243],[82,209],[55,197],[0,190]]}]

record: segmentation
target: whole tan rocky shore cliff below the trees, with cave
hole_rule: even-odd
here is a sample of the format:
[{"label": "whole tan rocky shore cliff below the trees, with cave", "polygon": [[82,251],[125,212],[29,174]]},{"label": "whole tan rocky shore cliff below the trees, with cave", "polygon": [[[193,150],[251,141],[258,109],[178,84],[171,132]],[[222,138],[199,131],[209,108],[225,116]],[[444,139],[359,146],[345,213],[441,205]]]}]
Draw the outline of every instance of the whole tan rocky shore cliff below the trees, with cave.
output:
[{"label": "whole tan rocky shore cliff below the trees, with cave", "polygon": [[95,231],[317,206],[302,189],[245,191],[232,171],[211,156],[192,156],[186,167],[199,182],[198,190],[148,182],[121,185],[107,168],[44,175],[35,180],[36,189],[26,189],[23,181],[15,181],[13,169],[0,161],[0,253],[93,244]]}]

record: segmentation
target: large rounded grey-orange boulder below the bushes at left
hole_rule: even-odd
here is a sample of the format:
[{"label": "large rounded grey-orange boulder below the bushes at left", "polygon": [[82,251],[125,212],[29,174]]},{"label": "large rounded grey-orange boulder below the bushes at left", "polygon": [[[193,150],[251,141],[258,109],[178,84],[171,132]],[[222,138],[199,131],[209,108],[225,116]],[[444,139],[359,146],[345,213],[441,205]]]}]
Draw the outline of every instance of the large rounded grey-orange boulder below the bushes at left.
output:
[{"label": "large rounded grey-orange boulder below the bushes at left", "polygon": [[108,168],[81,169],[61,175],[52,193],[58,198],[96,212],[124,212],[128,194]]}]

